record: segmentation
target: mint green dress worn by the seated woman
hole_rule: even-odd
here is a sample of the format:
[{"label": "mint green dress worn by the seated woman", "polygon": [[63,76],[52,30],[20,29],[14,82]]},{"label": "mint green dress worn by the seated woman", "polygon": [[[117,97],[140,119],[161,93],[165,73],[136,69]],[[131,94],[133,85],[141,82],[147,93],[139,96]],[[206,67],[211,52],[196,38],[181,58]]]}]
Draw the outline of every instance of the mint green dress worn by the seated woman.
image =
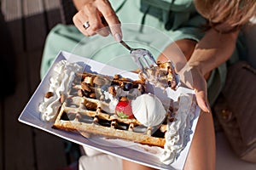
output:
[{"label": "mint green dress worn by the seated woman", "polygon": [[[192,0],[110,0],[121,21],[123,39],[134,48],[147,48],[154,57],[168,44],[189,38],[199,41],[206,20],[197,14]],[[123,70],[137,69],[127,49],[113,37],[84,37],[75,26],[57,25],[45,42],[41,77],[60,50],[95,59]],[[212,72],[208,83],[211,103],[224,84],[225,65]]]}]

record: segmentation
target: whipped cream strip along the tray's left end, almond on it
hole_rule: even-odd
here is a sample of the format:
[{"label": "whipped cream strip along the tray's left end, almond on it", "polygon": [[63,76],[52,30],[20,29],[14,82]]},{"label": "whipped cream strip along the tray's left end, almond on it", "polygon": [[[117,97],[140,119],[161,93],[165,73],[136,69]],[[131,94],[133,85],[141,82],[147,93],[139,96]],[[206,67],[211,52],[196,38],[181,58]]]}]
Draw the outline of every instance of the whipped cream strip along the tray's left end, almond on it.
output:
[{"label": "whipped cream strip along the tray's left end, almond on it", "polygon": [[45,122],[55,121],[59,107],[61,106],[61,94],[68,94],[71,89],[75,73],[82,71],[82,66],[76,63],[69,63],[67,60],[59,61],[54,69],[53,76],[49,79],[49,92],[54,95],[39,105],[41,119]]}]

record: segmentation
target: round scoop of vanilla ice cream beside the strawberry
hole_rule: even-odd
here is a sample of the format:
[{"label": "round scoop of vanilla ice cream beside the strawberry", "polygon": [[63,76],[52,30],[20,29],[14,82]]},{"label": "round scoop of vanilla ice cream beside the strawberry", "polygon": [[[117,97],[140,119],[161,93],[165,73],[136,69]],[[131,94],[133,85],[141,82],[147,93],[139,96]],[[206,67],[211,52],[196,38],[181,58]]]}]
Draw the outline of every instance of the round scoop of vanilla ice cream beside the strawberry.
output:
[{"label": "round scoop of vanilla ice cream beside the strawberry", "polygon": [[164,106],[153,94],[142,94],[132,100],[131,109],[137,121],[147,127],[160,125],[166,117]]}]

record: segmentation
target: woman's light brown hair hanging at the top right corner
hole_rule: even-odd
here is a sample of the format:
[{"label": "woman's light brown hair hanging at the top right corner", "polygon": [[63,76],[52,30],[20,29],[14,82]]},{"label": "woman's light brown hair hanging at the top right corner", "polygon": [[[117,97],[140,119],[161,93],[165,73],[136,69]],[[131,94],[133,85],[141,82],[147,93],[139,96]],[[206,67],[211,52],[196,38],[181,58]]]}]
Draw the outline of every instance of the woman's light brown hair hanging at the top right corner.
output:
[{"label": "woman's light brown hair hanging at the top right corner", "polygon": [[229,26],[227,32],[236,31],[256,15],[255,0],[195,0],[195,8],[207,18],[210,27]]}]

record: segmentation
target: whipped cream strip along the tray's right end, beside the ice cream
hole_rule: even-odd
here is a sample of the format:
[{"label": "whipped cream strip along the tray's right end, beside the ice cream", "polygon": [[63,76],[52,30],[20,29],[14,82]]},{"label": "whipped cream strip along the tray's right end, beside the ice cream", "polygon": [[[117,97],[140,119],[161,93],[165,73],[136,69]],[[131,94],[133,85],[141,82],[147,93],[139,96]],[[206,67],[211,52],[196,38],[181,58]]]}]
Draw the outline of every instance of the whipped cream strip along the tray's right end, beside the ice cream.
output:
[{"label": "whipped cream strip along the tray's right end, beside the ice cream", "polygon": [[195,117],[195,102],[192,94],[181,94],[176,121],[168,122],[166,132],[166,144],[164,153],[160,156],[160,161],[169,165],[180,154],[186,144],[189,142],[189,134],[192,121]]}]

